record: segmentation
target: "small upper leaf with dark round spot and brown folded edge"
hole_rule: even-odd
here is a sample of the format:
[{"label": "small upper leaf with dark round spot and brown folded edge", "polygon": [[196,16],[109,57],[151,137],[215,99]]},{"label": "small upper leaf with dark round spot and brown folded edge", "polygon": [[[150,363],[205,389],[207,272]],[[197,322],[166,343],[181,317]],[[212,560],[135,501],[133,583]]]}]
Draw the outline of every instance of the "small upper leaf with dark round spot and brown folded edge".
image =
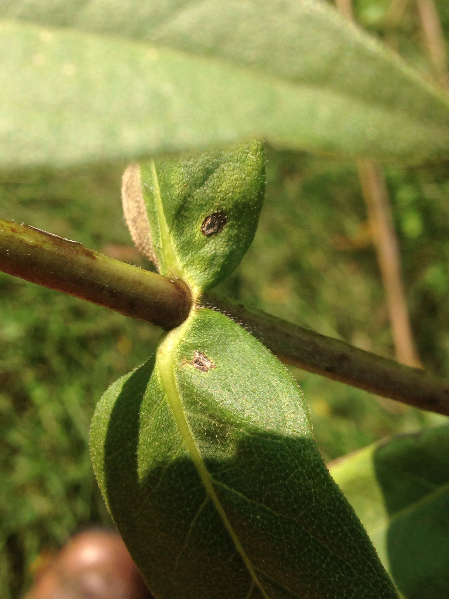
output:
[{"label": "small upper leaf with dark round spot and brown folded edge", "polygon": [[131,165],[122,186],[136,245],[161,274],[189,283],[195,297],[225,279],[245,255],[264,192],[260,141],[140,168]]}]

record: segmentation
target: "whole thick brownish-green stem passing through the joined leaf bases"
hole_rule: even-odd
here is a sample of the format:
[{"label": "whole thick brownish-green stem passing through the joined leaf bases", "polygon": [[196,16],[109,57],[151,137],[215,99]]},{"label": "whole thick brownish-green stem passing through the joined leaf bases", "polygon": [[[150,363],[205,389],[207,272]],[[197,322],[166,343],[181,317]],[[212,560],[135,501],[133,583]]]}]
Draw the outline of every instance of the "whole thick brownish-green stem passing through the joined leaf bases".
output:
[{"label": "whole thick brownish-green stem passing through the joined leaf bases", "polygon": [[[189,290],[181,281],[3,219],[0,270],[165,329],[180,325],[191,307]],[[201,301],[241,323],[287,364],[449,416],[447,380],[229,300],[208,296]]]}]

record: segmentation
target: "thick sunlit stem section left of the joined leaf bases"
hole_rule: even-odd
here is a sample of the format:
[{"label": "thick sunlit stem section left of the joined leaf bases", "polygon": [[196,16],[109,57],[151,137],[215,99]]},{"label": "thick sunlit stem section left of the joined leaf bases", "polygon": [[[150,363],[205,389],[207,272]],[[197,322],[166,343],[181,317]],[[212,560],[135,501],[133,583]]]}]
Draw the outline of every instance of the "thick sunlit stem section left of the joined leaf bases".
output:
[{"label": "thick sunlit stem section left of the joined leaf bases", "polygon": [[0,270],[165,329],[180,325],[192,303],[182,281],[4,219],[0,219]]}]

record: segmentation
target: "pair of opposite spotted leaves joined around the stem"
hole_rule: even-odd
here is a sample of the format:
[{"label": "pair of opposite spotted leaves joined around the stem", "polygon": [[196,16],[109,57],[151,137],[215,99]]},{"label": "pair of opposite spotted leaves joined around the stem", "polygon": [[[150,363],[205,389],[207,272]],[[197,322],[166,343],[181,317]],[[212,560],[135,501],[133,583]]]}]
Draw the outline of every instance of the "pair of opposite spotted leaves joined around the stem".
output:
[{"label": "pair of opposite spotted leaves joined around the stem", "polygon": [[194,306],[99,402],[96,477],[156,599],[397,598],[301,389],[245,329],[200,307],[253,239],[264,167],[253,141],[126,170],[132,237]]}]

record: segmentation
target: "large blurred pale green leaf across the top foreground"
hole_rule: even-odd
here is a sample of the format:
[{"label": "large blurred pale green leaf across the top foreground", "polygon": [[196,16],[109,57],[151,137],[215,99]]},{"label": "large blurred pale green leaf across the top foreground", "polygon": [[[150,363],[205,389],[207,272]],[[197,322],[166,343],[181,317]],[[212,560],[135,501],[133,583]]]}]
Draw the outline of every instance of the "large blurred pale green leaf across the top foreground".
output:
[{"label": "large blurred pale green leaf across the top foreground", "polygon": [[1,168],[251,137],[411,161],[449,153],[442,92],[323,2],[15,0],[0,18]]}]

